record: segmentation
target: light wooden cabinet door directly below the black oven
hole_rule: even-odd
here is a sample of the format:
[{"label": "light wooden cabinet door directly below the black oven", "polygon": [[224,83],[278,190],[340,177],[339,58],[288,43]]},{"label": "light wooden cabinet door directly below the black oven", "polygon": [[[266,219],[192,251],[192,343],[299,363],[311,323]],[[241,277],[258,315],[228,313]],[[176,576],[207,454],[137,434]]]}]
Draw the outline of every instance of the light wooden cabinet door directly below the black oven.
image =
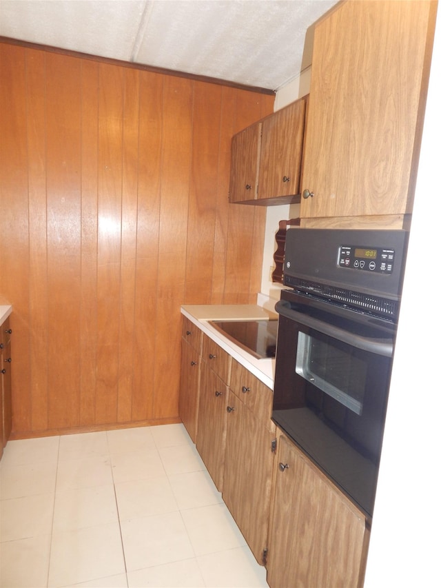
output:
[{"label": "light wooden cabinet door directly below the black oven", "polygon": [[271,588],[362,586],[365,517],[285,436],[280,436],[268,549]]}]

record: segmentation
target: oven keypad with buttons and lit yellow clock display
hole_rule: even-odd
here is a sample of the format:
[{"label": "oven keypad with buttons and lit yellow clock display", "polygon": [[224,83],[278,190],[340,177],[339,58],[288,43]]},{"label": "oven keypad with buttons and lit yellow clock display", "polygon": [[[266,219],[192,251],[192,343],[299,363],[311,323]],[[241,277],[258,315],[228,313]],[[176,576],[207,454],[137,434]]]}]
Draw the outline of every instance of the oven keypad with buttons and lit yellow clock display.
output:
[{"label": "oven keypad with buttons and lit yellow clock display", "polygon": [[340,245],[338,265],[352,270],[391,274],[393,270],[393,249],[381,247],[360,247],[358,245]]}]

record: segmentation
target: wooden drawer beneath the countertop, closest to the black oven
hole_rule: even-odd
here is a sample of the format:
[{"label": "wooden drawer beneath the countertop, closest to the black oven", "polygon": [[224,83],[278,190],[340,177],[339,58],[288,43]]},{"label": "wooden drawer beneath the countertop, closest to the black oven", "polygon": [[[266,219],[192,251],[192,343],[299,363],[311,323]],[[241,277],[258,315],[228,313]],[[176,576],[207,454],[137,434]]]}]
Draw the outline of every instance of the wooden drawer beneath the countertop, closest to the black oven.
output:
[{"label": "wooden drawer beneath the countertop, closest to the black oven", "polygon": [[230,389],[247,405],[260,423],[271,432],[276,430],[276,425],[271,420],[273,391],[235,359],[232,360]]}]

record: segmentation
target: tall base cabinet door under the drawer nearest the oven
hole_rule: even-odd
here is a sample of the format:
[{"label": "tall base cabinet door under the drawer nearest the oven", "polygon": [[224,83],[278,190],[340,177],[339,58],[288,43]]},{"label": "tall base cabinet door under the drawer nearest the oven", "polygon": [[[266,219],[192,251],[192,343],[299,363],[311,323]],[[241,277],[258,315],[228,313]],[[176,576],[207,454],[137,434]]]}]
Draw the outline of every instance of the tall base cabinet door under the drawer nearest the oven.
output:
[{"label": "tall base cabinet door under the drawer nearest the oven", "polygon": [[223,499],[256,560],[267,547],[274,454],[271,434],[234,394],[227,416]]}]

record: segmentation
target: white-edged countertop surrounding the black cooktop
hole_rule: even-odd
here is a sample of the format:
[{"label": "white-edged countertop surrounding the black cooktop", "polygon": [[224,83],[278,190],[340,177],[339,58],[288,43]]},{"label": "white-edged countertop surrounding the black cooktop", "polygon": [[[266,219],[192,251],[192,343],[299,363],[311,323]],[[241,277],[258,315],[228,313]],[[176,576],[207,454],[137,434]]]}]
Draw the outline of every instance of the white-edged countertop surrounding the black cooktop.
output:
[{"label": "white-edged countertop surrounding the black cooktop", "polygon": [[246,367],[267,387],[274,388],[274,358],[258,359],[247,353],[242,347],[235,345],[229,338],[218,332],[208,321],[243,321],[278,318],[278,315],[254,304],[223,304],[223,305],[183,305],[181,313],[192,321],[215,343],[225,349],[238,363]]}]

